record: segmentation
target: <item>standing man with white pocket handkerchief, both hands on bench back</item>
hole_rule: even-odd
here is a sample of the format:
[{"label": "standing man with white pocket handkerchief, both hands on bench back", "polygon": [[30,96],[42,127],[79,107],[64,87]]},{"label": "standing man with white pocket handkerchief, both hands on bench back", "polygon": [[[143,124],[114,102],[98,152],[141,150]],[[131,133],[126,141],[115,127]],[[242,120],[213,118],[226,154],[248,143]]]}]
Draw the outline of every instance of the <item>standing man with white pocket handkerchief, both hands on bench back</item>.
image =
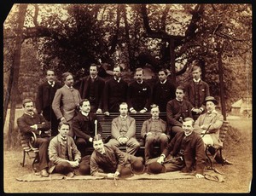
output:
[{"label": "standing man with white pocket handkerchief, both hands on bench back", "polygon": [[149,84],[143,81],[143,68],[137,68],[136,81],[128,87],[128,105],[132,113],[144,113],[148,111],[151,103],[151,89]]}]

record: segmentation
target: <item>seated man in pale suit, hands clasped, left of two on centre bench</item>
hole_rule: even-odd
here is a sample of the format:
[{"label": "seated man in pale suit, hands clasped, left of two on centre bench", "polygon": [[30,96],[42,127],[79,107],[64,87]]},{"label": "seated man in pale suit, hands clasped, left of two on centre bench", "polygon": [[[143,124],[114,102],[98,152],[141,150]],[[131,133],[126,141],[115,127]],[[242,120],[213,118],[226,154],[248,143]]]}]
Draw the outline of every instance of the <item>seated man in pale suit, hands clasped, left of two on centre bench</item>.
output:
[{"label": "seated man in pale suit, hands clasped, left of two on centre bench", "polygon": [[108,144],[114,147],[126,145],[126,153],[134,155],[140,148],[140,143],[135,137],[135,119],[128,115],[128,105],[125,102],[119,105],[119,112],[119,117],[113,118],[111,127],[112,139],[108,141]]}]

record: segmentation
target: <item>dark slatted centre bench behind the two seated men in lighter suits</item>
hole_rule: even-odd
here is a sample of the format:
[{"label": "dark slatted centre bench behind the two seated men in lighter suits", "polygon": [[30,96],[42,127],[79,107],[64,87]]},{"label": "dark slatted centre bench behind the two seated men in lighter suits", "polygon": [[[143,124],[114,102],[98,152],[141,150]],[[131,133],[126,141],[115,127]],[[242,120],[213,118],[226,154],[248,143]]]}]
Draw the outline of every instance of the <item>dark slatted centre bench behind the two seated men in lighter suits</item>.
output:
[{"label": "dark slatted centre bench behind the two seated men in lighter suits", "polygon": [[[98,122],[101,124],[102,126],[102,137],[103,138],[109,138],[111,136],[111,124],[112,124],[112,120],[113,118],[118,117],[120,114],[119,112],[111,112],[109,116],[106,116],[104,114],[96,114]],[[140,142],[140,149],[138,154],[144,153],[144,141],[142,140],[141,137],[141,130],[143,127],[143,122],[145,120],[147,120],[148,118],[151,118],[151,114],[149,112],[145,112],[145,113],[129,113],[129,115],[132,118],[135,118],[136,120],[136,139],[137,141]],[[160,118],[162,118],[163,120],[166,121],[166,112],[162,112],[160,113]],[[125,152],[126,147],[125,146],[120,146],[119,147],[120,150]],[[154,149],[157,151],[160,151],[160,147],[155,146]]]}]

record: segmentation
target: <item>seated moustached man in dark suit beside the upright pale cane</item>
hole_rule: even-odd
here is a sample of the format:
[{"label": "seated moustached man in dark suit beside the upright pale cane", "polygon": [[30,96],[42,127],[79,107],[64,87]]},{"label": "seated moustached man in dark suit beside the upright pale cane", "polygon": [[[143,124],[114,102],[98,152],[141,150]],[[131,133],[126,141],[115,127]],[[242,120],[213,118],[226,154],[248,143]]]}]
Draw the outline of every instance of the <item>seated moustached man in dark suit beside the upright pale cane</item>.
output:
[{"label": "seated moustached man in dark suit beside the upright pale cane", "polygon": [[73,118],[73,132],[76,135],[76,145],[82,157],[88,153],[86,148],[92,147],[93,136],[95,135],[95,122],[97,133],[102,134],[102,127],[96,121],[96,115],[90,112],[90,101],[84,99],[79,103],[80,112]]}]

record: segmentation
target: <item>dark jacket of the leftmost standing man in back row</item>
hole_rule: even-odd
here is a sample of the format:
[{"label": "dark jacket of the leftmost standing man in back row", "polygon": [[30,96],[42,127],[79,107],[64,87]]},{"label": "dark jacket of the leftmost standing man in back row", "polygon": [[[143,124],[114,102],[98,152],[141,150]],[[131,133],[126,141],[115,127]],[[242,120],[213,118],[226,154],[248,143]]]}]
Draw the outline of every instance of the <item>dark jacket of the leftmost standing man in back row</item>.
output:
[{"label": "dark jacket of the leftmost standing man in back row", "polygon": [[47,81],[38,86],[38,94],[35,102],[36,109],[38,114],[43,112],[44,118],[46,118],[48,121],[50,120],[50,113],[54,114],[51,108],[51,104],[55,97],[55,92],[61,87],[62,85],[58,82],[55,82],[54,87],[51,87]]}]

